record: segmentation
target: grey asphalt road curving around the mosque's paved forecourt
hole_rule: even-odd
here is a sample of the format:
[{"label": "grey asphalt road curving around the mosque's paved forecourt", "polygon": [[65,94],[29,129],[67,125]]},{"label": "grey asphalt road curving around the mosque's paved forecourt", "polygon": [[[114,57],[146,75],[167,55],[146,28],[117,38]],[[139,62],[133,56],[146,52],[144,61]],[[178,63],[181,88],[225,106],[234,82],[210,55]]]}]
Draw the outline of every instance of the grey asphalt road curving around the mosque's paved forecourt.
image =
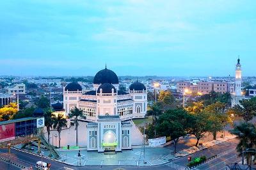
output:
[{"label": "grey asphalt road curving around the mosque's paved forecourt", "polygon": [[[201,166],[196,167],[196,169],[225,169],[226,164],[234,163],[234,162],[240,162],[241,158],[237,158],[236,153],[236,145],[237,145],[237,139],[232,139],[230,141],[227,141],[225,143],[221,143],[215,146],[212,146],[211,148],[207,148],[206,150],[198,151],[196,153],[191,154],[191,157],[200,157],[202,155],[206,155],[207,157],[211,157],[213,155],[218,155],[218,157],[209,160],[209,162],[202,164]],[[8,151],[7,150],[0,150],[0,156],[6,155]],[[31,155],[29,153],[24,153],[19,150],[11,150],[12,153],[12,160],[15,162],[19,162],[20,164],[24,166],[33,166],[35,169],[35,164],[38,160],[41,160],[41,157],[38,155]],[[76,166],[68,166],[66,164],[52,161],[46,158],[43,158],[44,162],[51,163],[51,169],[178,169],[182,170],[185,169],[186,165],[188,164],[188,157],[182,157],[177,160],[174,160],[173,162],[170,162],[168,164],[164,164],[161,166],[150,166],[150,167],[118,167],[118,166],[90,166],[90,167],[76,167]],[[0,161],[0,170],[11,170],[11,169],[17,169],[16,167],[10,166],[4,162]]]}]

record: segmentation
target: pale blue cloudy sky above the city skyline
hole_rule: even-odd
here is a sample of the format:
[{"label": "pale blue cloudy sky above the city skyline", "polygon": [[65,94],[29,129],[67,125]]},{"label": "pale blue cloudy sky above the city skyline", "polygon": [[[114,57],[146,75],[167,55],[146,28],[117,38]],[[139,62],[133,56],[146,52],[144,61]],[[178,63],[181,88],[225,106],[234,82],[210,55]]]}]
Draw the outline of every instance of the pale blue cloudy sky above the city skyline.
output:
[{"label": "pale blue cloudy sky above the city skyline", "polygon": [[6,0],[0,75],[256,75],[256,1]]}]

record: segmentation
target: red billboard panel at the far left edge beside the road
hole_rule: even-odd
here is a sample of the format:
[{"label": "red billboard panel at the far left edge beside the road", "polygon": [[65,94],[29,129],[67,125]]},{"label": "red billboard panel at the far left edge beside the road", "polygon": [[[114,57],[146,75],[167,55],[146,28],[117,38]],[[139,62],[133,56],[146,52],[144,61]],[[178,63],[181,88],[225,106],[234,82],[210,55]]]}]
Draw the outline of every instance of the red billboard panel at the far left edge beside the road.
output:
[{"label": "red billboard panel at the far left edge beside the road", "polygon": [[15,123],[0,126],[0,142],[15,139]]}]

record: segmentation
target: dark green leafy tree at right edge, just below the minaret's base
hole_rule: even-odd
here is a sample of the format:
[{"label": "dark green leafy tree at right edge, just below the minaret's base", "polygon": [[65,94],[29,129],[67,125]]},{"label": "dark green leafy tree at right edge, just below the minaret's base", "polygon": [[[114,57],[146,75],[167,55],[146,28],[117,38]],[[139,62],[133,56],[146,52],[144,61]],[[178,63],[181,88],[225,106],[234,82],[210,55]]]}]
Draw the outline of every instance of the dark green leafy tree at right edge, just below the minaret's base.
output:
[{"label": "dark green leafy tree at right edge, just below the minaret's base", "polygon": [[244,121],[252,120],[253,116],[256,116],[256,97],[250,98],[249,100],[243,99],[239,102],[242,107],[236,105],[236,111],[243,117]]}]

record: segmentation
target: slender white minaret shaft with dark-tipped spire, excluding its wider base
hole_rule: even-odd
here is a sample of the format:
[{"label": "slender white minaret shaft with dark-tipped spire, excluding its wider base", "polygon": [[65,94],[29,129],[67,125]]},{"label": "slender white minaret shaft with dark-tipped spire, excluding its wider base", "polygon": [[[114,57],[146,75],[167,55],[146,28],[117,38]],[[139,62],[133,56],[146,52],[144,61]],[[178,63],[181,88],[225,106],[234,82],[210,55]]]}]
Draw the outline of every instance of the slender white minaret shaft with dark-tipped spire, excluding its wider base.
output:
[{"label": "slender white minaret shaft with dark-tipped spire, excluding its wider base", "polygon": [[240,59],[238,57],[237,64],[236,64],[236,81],[235,81],[235,95],[241,96],[242,95],[242,70],[241,70],[241,64]]}]

